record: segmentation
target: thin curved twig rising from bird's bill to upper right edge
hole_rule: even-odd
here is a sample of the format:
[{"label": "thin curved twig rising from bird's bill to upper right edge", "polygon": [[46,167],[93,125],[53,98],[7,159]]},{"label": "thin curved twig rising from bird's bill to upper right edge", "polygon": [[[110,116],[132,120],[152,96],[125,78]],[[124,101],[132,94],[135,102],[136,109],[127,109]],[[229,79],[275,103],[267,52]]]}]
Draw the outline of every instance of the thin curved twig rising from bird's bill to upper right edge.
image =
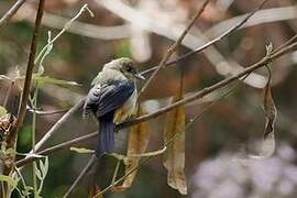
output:
[{"label": "thin curved twig rising from bird's bill to upper right edge", "polygon": [[[235,24],[234,26],[231,26],[230,29],[228,29],[226,32],[223,32],[221,35],[219,35],[218,37],[209,41],[208,43],[204,44],[202,46],[191,51],[191,52],[188,52],[179,57],[177,57],[176,59],[173,59],[168,63],[165,64],[165,66],[172,66],[172,65],[175,65],[177,64],[178,62],[182,62],[183,59],[186,59],[190,56],[193,56],[194,54],[197,54],[204,50],[206,50],[207,47],[209,47],[210,45],[213,45],[215,43],[221,41],[222,38],[224,38],[226,36],[230,35],[231,33],[233,33],[234,31],[237,31],[240,26],[242,26],[244,23],[246,23],[246,21],[252,18],[252,15],[255,14],[255,12],[257,12],[268,0],[264,0],[262,1],[262,3],[254,10],[252,11],[251,13],[249,13],[242,21],[240,21],[238,24]],[[154,66],[150,69],[146,69],[144,72],[142,72],[141,74],[142,75],[146,75],[148,73],[152,73],[153,70],[157,69],[157,66]]]}]

